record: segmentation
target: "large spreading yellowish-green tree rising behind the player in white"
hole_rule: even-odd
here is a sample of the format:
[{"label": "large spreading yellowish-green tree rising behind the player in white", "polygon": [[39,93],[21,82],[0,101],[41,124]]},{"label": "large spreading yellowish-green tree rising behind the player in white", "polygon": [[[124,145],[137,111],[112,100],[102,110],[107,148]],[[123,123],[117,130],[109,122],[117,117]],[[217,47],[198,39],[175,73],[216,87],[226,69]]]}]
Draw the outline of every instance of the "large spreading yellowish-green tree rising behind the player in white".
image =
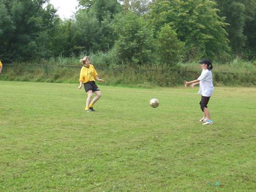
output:
[{"label": "large spreading yellowish-green tree rising behind the player in white", "polygon": [[177,37],[185,43],[187,60],[203,57],[219,60],[228,55],[229,46],[224,18],[218,16],[216,3],[211,0],[156,0],[149,14],[155,31],[171,24]]}]

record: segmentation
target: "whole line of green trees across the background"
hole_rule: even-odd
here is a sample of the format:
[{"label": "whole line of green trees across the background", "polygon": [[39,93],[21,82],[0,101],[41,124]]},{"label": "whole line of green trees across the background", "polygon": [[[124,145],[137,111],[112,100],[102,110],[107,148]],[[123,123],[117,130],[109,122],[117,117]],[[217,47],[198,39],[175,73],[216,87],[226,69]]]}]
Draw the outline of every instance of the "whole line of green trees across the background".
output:
[{"label": "whole line of green trees across the background", "polygon": [[3,62],[103,53],[107,64],[256,58],[256,0],[78,0],[61,20],[49,0],[0,0]]}]

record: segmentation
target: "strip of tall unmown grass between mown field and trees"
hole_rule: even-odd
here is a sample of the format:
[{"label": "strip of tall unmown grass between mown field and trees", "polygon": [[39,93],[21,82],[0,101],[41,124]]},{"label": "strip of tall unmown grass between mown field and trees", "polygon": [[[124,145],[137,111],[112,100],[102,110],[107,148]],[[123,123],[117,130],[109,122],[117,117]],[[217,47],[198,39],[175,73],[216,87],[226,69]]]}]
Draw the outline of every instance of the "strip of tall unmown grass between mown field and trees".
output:
[{"label": "strip of tall unmown grass between mown field and trees", "polygon": [[[84,55],[5,65],[0,80],[77,83],[82,66],[79,60]],[[183,84],[184,80],[196,79],[201,73],[196,62],[178,63],[174,67],[164,64],[131,66],[111,63],[108,53],[90,54],[90,57],[99,77],[112,85],[176,86]],[[255,62],[235,59],[227,64],[213,63],[213,66],[215,85],[256,85]]]}]

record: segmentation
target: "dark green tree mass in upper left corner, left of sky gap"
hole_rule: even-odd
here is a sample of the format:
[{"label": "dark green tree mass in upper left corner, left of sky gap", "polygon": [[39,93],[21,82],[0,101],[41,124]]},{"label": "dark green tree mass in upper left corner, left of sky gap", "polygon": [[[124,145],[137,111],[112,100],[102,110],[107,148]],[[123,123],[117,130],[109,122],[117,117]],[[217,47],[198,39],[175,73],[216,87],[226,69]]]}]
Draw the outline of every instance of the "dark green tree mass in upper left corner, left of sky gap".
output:
[{"label": "dark green tree mass in upper left corner, left of sky gap", "polygon": [[[1,54],[5,61],[34,60],[53,56],[49,44],[54,44],[56,10],[46,0],[1,0]],[[3,19],[2,19],[3,18]],[[2,35],[1,35],[2,34]]]}]

